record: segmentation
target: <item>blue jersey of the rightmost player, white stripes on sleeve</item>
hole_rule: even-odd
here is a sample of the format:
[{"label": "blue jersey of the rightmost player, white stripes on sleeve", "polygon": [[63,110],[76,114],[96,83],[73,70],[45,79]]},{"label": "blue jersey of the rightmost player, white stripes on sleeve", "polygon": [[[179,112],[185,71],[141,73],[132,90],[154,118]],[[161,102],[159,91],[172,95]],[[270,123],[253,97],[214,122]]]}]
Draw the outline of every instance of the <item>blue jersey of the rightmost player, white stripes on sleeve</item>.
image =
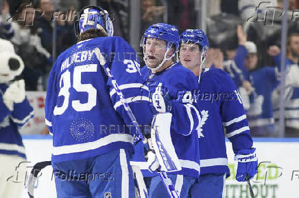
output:
[{"label": "blue jersey of the rightmost player, white stripes on sleeve", "polygon": [[252,147],[241,97],[230,76],[217,68],[202,72],[199,87],[195,104],[202,114],[202,130],[198,134],[200,175],[226,173],[229,176],[225,137],[235,153]]}]

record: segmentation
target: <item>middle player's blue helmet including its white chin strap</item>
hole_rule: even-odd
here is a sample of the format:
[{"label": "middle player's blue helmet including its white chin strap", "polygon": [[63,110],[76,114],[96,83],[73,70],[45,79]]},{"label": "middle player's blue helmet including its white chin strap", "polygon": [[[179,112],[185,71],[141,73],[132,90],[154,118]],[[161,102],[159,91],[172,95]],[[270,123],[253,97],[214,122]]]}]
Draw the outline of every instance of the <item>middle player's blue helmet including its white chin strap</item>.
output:
[{"label": "middle player's blue helmet including its white chin strap", "polygon": [[[178,42],[179,42],[179,35],[178,35],[178,29],[174,25],[169,25],[165,23],[156,23],[154,25],[151,25],[147,30],[145,31],[143,35],[143,53],[145,54],[145,43],[147,38],[156,38],[158,40],[164,40],[166,42],[166,52],[164,55],[163,61],[160,63],[160,65],[156,68],[151,68],[151,70],[158,70],[165,61],[172,59],[176,52],[178,52]],[[171,50],[171,48],[174,46],[174,53],[171,55],[171,57],[167,58],[167,53]]]}]

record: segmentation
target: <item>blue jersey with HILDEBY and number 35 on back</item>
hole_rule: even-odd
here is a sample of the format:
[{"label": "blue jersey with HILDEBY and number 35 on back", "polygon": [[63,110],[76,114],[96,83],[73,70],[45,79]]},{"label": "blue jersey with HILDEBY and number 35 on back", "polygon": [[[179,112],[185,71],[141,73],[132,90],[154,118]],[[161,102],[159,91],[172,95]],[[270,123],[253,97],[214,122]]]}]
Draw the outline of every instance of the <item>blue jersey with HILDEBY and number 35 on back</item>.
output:
[{"label": "blue jersey with HILDEBY and number 35 on back", "polygon": [[49,75],[45,116],[53,162],[120,148],[132,154],[134,126],[102,66],[110,68],[139,124],[152,122],[148,88],[132,47],[119,37],[78,42],[58,57]]}]

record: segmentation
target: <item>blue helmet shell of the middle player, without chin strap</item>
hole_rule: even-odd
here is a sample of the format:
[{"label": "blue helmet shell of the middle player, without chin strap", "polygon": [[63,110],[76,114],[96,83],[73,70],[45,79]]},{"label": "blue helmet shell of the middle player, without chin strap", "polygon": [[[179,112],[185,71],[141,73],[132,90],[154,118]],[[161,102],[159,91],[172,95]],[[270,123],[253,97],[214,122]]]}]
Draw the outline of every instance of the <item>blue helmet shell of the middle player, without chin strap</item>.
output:
[{"label": "blue helmet shell of the middle player, without chin strap", "polygon": [[145,44],[147,38],[156,38],[164,40],[167,43],[167,48],[174,44],[175,52],[178,51],[178,29],[174,25],[165,23],[156,23],[151,25],[144,33],[143,44]]}]

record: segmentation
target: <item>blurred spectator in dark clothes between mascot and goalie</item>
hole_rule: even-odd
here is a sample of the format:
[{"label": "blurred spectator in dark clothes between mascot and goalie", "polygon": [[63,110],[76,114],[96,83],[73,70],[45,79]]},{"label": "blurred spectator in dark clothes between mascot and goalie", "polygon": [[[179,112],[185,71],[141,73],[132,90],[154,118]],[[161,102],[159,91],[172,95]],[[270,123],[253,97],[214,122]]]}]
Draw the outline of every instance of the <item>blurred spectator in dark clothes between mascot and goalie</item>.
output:
[{"label": "blurred spectator in dark clothes between mascot and goalie", "polygon": [[43,48],[34,23],[34,8],[28,3],[21,3],[12,17],[14,36],[11,38],[16,53],[25,63],[23,76],[26,90],[37,89],[38,79],[49,72],[50,53]]}]

